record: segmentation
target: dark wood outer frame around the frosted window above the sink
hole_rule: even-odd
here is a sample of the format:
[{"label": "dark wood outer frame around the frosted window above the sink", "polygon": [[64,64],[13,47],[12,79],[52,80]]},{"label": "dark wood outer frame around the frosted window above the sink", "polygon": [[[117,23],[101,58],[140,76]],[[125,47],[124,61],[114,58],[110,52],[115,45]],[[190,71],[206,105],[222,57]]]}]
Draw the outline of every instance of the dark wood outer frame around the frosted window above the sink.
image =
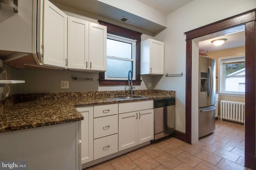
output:
[{"label": "dark wood outer frame around the frosted window above the sink", "polygon": [[[129,39],[136,39],[136,75],[135,80],[132,80],[136,85],[140,85],[140,42],[142,33],[133,31],[124,27],[120,27],[111,23],[107,23],[104,21],[98,21],[101,25],[107,26],[107,33],[118,35],[121,37],[126,37]],[[127,73],[128,75],[128,73]],[[127,80],[107,80],[105,79],[105,72],[100,72],[99,78],[100,86],[126,86],[128,85]]]}]

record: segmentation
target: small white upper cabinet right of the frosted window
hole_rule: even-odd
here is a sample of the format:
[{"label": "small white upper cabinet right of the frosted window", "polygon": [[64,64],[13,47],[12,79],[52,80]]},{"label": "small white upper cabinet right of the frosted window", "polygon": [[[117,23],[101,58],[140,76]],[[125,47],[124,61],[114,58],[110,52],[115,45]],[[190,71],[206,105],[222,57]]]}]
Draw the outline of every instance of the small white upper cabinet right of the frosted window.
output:
[{"label": "small white upper cabinet right of the frosted window", "polygon": [[164,74],[164,43],[154,39],[141,42],[140,74]]}]

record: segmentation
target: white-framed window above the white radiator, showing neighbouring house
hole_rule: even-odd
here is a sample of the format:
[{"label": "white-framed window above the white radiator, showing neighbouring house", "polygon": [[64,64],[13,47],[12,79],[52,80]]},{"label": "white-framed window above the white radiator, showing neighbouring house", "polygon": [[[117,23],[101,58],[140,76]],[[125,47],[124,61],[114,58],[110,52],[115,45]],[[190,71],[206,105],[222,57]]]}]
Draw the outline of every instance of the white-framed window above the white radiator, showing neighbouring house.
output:
[{"label": "white-framed window above the white radiator, showing neighbouring house", "polygon": [[245,57],[220,60],[220,92],[245,92]]}]

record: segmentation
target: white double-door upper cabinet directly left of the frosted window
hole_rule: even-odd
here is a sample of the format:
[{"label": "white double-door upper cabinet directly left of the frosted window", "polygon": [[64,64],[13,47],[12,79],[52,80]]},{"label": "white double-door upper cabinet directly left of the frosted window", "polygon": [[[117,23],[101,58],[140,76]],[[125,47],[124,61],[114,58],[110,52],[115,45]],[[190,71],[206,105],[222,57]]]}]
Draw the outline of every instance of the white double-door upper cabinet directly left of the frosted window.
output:
[{"label": "white double-door upper cabinet directly left of the frosted window", "polygon": [[68,17],[68,68],[106,71],[107,27]]}]

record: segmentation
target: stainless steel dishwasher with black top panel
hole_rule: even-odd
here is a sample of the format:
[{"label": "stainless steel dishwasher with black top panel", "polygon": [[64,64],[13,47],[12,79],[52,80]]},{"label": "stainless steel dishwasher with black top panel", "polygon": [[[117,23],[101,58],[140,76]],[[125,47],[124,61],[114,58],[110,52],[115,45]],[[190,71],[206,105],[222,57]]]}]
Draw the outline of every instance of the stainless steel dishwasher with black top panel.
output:
[{"label": "stainless steel dishwasher with black top panel", "polygon": [[175,98],[154,100],[154,140],[174,133]]}]

